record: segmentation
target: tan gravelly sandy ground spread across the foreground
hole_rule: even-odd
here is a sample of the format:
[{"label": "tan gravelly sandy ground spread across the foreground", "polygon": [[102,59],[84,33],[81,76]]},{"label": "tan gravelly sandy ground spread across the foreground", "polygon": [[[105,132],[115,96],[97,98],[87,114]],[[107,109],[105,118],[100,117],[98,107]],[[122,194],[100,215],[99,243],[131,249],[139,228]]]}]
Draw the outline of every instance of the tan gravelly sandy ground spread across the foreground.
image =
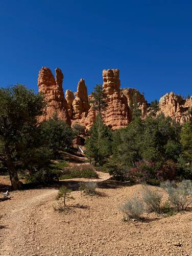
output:
[{"label": "tan gravelly sandy ground spread across the foreground", "polygon": [[53,209],[57,189],[12,192],[0,202],[0,255],[192,255],[192,212],[124,222],[118,207],[140,185],[100,187],[102,196],[72,192],[68,204],[84,207],[68,215]]}]

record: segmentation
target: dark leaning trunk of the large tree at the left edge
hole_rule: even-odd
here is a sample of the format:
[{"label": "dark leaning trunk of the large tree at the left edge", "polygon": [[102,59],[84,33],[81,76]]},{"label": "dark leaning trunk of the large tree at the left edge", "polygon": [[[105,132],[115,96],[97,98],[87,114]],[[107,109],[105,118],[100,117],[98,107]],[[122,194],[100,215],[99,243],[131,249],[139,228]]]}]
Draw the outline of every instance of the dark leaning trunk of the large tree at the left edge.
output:
[{"label": "dark leaning trunk of the large tree at the left edge", "polygon": [[9,148],[6,147],[6,164],[10,176],[10,181],[11,181],[11,187],[13,190],[20,190],[22,189],[22,182],[19,181],[18,175],[17,175],[17,170],[15,169],[13,165],[12,158],[10,156]]}]

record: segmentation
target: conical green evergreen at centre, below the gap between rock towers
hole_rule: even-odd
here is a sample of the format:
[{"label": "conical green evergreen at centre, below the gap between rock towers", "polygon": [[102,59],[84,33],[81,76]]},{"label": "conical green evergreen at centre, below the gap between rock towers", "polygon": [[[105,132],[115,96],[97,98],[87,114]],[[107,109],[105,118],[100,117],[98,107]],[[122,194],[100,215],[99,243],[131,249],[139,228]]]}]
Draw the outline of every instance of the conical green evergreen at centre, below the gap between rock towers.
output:
[{"label": "conical green evergreen at centre, below the gap between rock towers", "polygon": [[111,131],[104,124],[101,113],[95,118],[90,134],[85,144],[86,156],[90,161],[94,159],[94,165],[103,165],[111,155]]}]

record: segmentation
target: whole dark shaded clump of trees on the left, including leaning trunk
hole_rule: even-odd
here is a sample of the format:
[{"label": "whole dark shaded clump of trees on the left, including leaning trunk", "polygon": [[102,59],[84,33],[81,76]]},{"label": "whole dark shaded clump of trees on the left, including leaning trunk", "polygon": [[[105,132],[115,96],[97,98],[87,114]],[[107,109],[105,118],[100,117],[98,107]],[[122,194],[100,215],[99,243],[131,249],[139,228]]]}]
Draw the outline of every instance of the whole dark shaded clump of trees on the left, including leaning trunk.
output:
[{"label": "whole dark shaded clump of trees on the left, including leaning trunk", "polygon": [[0,102],[0,161],[12,188],[22,188],[18,172],[29,181],[53,180],[56,175],[50,169],[51,159],[56,151],[71,145],[71,128],[56,118],[39,125],[45,99],[23,85],[0,88]]}]

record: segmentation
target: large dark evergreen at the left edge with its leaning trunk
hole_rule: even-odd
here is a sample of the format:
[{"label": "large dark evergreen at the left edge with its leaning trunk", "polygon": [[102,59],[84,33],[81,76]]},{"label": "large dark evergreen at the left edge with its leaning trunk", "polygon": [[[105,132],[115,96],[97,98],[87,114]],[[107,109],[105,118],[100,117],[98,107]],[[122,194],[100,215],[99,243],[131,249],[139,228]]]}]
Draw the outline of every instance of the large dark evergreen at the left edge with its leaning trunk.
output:
[{"label": "large dark evergreen at the left edge with its leaning trunk", "polygon": [[8,169],[12,188],[20,189],[17,165],[32,150],[29,145],[36,136],[37,116],[46,103],[42,95],[23,85],[0,88],[0,102],[0,160]]}]

